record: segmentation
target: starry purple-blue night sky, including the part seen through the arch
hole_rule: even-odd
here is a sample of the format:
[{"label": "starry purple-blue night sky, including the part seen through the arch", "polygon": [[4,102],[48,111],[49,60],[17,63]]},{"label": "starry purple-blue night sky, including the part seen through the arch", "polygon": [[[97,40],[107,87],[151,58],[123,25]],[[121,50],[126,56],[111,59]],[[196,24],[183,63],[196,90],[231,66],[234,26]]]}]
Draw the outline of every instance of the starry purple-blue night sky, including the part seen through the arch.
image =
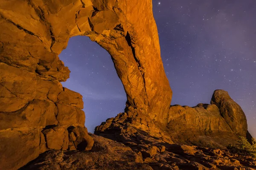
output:
[{"label": "starry purple-blue night sky, including the part seen through the arch", "polygon": [[[224,89],[256,137],[256,1],[153,0],[153,11],[172,105],[209,103]],[[84,97],[89,132],[124,111],[126,94],[105,49],[77,36],[59,57],[71,71],[63,86]]]}]

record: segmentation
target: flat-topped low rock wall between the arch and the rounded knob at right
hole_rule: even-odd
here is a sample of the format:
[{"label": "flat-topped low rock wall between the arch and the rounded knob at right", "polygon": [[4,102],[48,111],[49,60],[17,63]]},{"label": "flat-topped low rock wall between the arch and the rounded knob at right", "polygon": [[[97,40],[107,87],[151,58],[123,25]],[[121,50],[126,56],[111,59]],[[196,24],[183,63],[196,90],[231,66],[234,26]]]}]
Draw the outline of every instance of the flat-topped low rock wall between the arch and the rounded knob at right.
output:
[{"label": "flat-topped low rock wall between the arch and the rounded knob at right", "polygon": [[167,129],[175,142],[204,147],[224,148],[238,139],[218,107],[202,103],[193,108],[171,106]]}]

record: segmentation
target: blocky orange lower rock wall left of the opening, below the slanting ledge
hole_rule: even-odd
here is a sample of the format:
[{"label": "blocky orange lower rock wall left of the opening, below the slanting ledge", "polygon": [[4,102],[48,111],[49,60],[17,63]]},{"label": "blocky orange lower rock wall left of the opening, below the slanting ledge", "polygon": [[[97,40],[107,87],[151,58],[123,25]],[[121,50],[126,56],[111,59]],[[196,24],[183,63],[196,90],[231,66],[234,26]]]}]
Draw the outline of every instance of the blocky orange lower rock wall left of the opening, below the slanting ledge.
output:
[{"label": "blocky orange lower rock wall left of the opening, below the slanting ledge", "polygon": [[17,169],[46,150],[90,150],[80,94],[56,80],[0,65],[6,95],[1,102],[12,105],[0,108],[0,169]]}]

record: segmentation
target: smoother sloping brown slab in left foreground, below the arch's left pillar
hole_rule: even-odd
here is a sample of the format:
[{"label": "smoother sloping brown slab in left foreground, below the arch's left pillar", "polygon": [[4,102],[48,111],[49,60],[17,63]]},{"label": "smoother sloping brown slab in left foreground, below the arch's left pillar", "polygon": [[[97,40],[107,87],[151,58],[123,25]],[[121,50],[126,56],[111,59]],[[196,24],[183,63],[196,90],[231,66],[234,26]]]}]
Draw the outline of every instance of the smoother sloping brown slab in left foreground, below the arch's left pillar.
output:
[{"label": "smoother sloping brown slab in left foreground, below the arch's left pillar", "polygon": [[102,136],[91,136],[95,143],[90,152],[51,150],[21,170],[152,170],[130,147]]}]

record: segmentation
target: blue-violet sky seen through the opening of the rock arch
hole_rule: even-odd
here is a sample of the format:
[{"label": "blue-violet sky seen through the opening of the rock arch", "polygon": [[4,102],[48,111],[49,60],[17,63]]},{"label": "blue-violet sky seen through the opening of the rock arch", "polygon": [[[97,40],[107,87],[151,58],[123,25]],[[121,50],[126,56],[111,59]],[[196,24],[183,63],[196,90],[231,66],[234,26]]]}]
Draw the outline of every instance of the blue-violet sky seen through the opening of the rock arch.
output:
[{"label": "blue-violet sky seen through the opening of the rock arch", "polygon": [[63,87],[83,96],[88,132],[125,109],[126,94],[111,56],[89,37],[71,37],[59,57],[70,69]]}]

